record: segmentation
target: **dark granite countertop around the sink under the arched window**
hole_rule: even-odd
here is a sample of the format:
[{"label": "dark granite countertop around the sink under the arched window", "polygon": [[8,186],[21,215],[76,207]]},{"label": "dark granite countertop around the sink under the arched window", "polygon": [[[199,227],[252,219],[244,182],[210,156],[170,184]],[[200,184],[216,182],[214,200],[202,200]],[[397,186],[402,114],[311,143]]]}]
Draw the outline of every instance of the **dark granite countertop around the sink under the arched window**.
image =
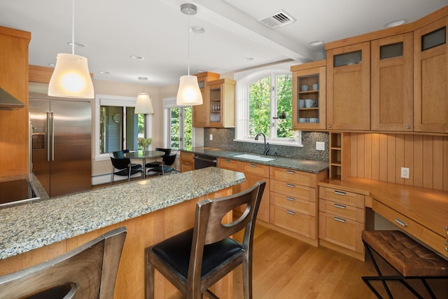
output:
[{"label": "dark granite countertop around the sink under the arched window", "polygon": [[191,153],[202,153],[204,155],[213,155],[218,158],[228,158],[232,160],[239,160],[244,162],[253,162],[256,164],[269,165],[274,167],[282,167],[286,169],[297,170],[300,172],[310,172],[312,174],[317,174],[324,169],[328,169],[328,162],[323,161],[314,161],[314,160],[302,160],[295,158],[282,158],[282,157],[274,157],[274,156],[266,156],[267,158],[273,158],[274,160],[270,161],[260,161],[260,160],[252,160],[245,158],[238,158],[235,155],[241,154],[250,154],[250,155],[259,155],[260,157],[265,157],[260,154],[254,153],[243,153],[238,151],[226,151],[221,148],[209,148],[209,147],[197,147],[192,148],[191,150],[183,150]]}]

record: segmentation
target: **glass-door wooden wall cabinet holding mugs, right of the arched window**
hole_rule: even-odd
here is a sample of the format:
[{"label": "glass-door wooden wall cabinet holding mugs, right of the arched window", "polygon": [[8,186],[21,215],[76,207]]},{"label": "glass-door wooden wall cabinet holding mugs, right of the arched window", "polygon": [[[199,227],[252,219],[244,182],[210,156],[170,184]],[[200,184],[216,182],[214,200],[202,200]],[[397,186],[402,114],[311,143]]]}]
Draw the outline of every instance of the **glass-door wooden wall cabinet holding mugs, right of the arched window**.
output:
[{"label": "glass-door wooden wall cabinet holding mugs, right of the arched window", "polygon": [[291,67],[291,71],[293,129],[325,130],[326,60],[299,64]]}]

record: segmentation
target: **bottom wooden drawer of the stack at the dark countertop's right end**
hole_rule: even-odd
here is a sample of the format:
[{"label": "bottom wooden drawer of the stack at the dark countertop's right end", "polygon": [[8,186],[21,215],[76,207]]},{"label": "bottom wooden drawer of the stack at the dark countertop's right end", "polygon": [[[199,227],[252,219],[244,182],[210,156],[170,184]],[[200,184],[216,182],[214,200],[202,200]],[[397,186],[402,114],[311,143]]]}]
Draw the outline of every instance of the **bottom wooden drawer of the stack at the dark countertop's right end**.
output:
[{"label": "bottom wooden drawer of the stack at the dark countertop's right end", "polygon": [[316,217],[271,204],[271,223],[316,239]]}]

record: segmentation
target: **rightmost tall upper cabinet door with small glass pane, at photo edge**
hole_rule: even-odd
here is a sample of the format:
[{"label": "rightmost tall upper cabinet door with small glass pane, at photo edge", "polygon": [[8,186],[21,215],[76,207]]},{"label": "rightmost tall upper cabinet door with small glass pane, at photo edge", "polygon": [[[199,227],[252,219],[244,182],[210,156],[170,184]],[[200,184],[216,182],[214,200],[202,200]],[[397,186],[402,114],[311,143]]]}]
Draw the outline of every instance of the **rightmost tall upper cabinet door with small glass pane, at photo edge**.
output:
[{"label": "rightmost tall upper cabinet door with small glass pane, at photo edge", "polygon": [[414,32],[414,131],[448,133],[448,17]]}]

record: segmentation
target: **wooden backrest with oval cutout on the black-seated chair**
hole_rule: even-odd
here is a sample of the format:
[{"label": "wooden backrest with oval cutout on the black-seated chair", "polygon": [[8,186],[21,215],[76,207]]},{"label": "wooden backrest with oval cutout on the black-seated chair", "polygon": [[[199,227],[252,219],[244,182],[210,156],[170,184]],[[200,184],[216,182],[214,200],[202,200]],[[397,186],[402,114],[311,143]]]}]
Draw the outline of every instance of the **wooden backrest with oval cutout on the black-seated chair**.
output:
[{"label": "wooden backrest with oval cutout on the black-seated chair", "polygon": [[[200,275],[205,245],[219,242],[240,230],[244,230],[244,239],[241,245],[248,254],[251,254],[255,219],[265,186],[265,181],[258,181],[251,188],[240,193],[212,200],[202,200],[196,204],[188,279]],[[241,205],[246,206],[244,213],[232,223],[223,223],[223,217]]]}]

